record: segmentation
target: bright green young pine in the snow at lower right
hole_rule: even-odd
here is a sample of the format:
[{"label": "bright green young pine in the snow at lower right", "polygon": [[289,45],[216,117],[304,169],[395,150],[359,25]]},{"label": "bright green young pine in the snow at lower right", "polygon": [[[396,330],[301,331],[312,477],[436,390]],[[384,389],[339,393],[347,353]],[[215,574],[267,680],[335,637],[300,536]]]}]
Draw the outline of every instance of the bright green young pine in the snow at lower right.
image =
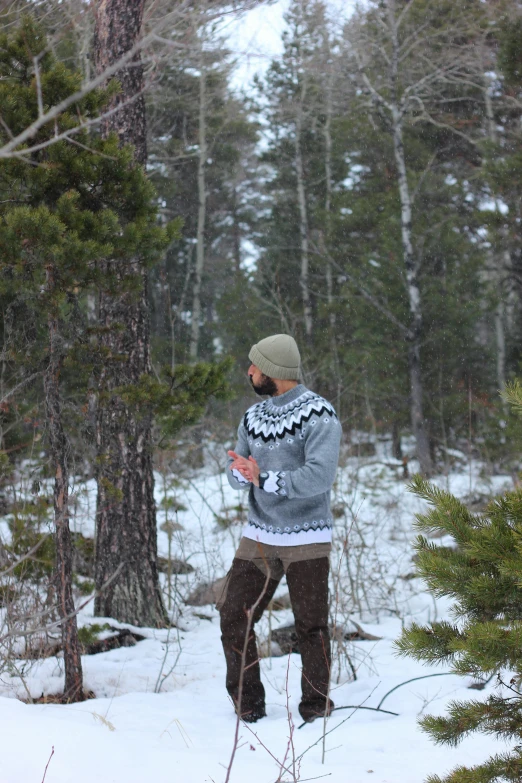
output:
[{"label": "bright green young pine in the snow at lower right", "polygon": [[[522,409],[522,385],[507,398]],[[481,701],[453,701],[445,717],[420,725],[438,744],[457,745],[481,732],[514,742],[511,751],[474,767],[459,766],[428,783],[493,783],[522,779],[522,490],[492,500],[482,514],[417,477],[414,493],[431,505],[417,518],[417,567],[437,596],[450,597],[453,621],[414,623],[397,642],[399,654],[450,665],[479,680],[497,675],[497,691]],[[451,536],[437,546],[426,536]],[[424,534],[424,535],[422,535]]]}]

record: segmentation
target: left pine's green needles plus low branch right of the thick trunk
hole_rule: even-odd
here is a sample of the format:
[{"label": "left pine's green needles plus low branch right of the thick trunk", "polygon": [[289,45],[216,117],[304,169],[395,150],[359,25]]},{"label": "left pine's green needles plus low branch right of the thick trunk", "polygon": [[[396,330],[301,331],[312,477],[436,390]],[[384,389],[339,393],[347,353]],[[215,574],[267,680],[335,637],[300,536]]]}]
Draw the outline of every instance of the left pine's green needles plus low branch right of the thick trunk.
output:
[{"label": "left pine's green needles plus low branch right of the thick trunk", "polygon": [[[38,117],[33,57],[43,50],[45,40],[30,18],[2,38],[0,114],[13,133]],[[50,53],[39,59],[39,80],[45,106],[60,102],[81,84],[80,74]],[[0,194],[10,194],[0,204],[0,298],[13,314],[25,316],[18,340],[29,346],[24,361],[30,366],[49,350],[46,320],[59,320],[63,382],[82,402],[89,381],[107,359],[96,339],[101,327],[88,318],[88,297],[100,289],[121,295],[122,286],[133,296],[142,285],[135,265],[129,263],[122,281],[106,261],[126,263],[138,256],[152,266],[181,230],[180,219],[159,225],[154,188],[134,163],[130,147],[120,148],[116,135],[101,138],[88,124],[78,128],[79,118],[89,123],[103,112],[113,89],[93,91],[60,114],[56,125],[44,125],[31,137],[27,143],[40,147],[31,153],[32,165],[23,157],[23,147],[21,156],[0,161]],[[71,128],[73,136],[54,140],[55,129]],[[0,128],[0,142],[6,134]],[[28,321],[35,328],[24,340]],[[19,366],[17,356],[13,371]],[[160,379],[144,375],[115,393],[136,416],[156,417],[162,435],[172,437],[197,421],[209,397],[226,398],[229,369],[226,360],[180,365],[163,370]],[[101,395],[100,404],[104,401]],[[64,415],[71,428],[83,426],[71,406]]]}]

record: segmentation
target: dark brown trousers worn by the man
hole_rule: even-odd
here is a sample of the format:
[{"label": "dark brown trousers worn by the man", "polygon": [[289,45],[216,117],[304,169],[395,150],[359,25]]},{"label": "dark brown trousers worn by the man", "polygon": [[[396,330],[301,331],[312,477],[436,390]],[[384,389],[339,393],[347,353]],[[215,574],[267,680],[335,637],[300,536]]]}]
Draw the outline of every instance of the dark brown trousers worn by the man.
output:
[{"label": "dark brown trousers worn by the man", "polygon": [[[329,565],[328,558],[321,557],[291,563],[286,571],[301,651],[302,698],[299,712],[304,720],[324,715],[327,705],[328,711],[333,707],[327,698],[331,661],[328,633]],[[281,569],[274,568],[274,571],[282,574]],[[276,591],[281,579],[279,573],[279,578],[269,576],[267,579],[252,561],[234,558],[222,599],[218,602],[221,641],[227,664],[226,687],[241,715],[264,714],[265,689],[261,683],[254,625]],[[248,612],[258,599],[259,603],[252,613],[243,661]],[[243,683],[240,698],[241,673]]]}]

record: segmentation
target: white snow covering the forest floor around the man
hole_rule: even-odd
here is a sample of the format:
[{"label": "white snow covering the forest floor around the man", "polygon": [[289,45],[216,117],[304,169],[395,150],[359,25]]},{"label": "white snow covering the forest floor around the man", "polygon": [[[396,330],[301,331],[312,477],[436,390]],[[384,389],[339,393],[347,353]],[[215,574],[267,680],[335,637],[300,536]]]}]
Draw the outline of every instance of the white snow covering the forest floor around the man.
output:
[{"label": "white snow covering the forest floor around the man", "polygon": [[[463,455],[453,456],[451,472],[435,481],[466,498],[473,508],[512,488],[510,476],[486,476],[480,463],[469,466]],[[226,780],[235,715],[224,688],[218,614],[211,604],[188,606],[184,599],[199,584],[226,573],[241,536],[245,497],[231,490],[224,475],[210,466],[190,480],[158,475],[156,490],[162,509],[158,513],[160,555],[168,553],[167,515],[179,527],[171,541],[172,557],[194,567],[191,573],[172,577],[176,627],[170,631],[134,629],[145,637],[135,646],[85,655],[85,687],[96,698],[82,704],[20,700],[27,700],[28,692],[37,699],[63,690],[59,657],[20,660],[22,677],[13,670],[4,671],[0,677],[0,783],[41,783],[52,749],[46,783]],[[80,483],[75,492],[73,528],[92,536],[94,483]],[[165,498],[175,498],[185,510],[175,514]],[[450,616],[449,604],[436,601],[413,574],[416,533],[412,523],[422,508],[421,501],[408,492],[402,465],[389,457],[387,444],[374,457],[346,459],[339,471],[333,499],[332,623],[337,629],[353,631],[351,621],[355,621],[380,638],[334,643],[332,697],[338,707],[376,707],[395,686],[444,671],[398,658],[393,648],[404,623]],[[285,592],[282,583],[277,595]],[[79,614],[79,625],[93,622],[120,627],[110,618],[94,621],[89,603]],[[270,629],[273,632],[291,622],[288,609],[264,617],[257,627],[263,648],[267,649]],[[452,699],[486,698],[494,691],[494,681],[481,691],[470,690],[471,681],[456,675],[410,682],[390,693],[382,704],[397,716],[367,709],[336,711],[326,723],[323,749],[323,721],[298,728],[299,655],[265,657],[261,669],[268,716],[251,726],[241,724],[230,783],[319,779],[421,783],[430,773],[479,763],[504,747],[483,736],[471,737],[456,749],[437,747],[416,723],[421,714],[442,714]],[[293,748],[289,740],[292,722]]]}]

